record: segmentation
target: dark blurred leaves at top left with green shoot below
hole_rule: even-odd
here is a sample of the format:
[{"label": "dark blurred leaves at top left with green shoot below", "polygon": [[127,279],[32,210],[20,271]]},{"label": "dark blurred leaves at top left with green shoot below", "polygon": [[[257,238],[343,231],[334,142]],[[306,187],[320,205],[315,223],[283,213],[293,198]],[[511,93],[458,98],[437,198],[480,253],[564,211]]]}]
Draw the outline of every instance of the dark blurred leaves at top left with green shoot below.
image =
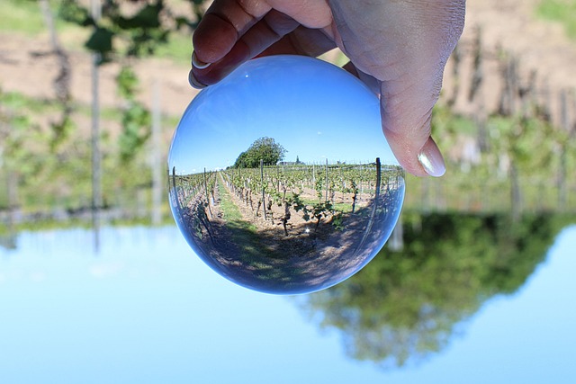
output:
[{"label": "dark blurred leaves at top left with green shoot below", "polygon": [[151,133],[150,112],[136,99],[139,81],[130,62],[155,54],[159,47],[169,42],[175,31],[184,27],[189,28],[188,32],[192,31],[201,18],[202,3],[190,4],[191,18],[189,14],[176,14],[163,0],[131,2],[130,5],[120,0],[105,0],[97,19],[76,0],[64,0],[59,4],[60,18],[91,30],[85,48],[98,53],[101,64],[112,60],[122,64],[116,77],[118,92],[124,99],[118,140],[122,161],[134,158]]}]

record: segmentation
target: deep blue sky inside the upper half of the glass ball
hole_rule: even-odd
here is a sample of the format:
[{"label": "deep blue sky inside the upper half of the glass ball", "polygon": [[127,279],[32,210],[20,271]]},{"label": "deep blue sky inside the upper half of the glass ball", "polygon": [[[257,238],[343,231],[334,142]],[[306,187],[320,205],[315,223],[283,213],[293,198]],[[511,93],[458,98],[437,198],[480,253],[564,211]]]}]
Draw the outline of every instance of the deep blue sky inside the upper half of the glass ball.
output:
[{"label": "deep blue sky inside the upper half of the glass ball", "polygon": [[[397,164],[383,136],[380,106],[356,77],[311,58],[253,60],[190,104],[175,133],[177,173],[233,165],[257,138],[270,137],[286,161]],[[180,172],[178,172],[180,170]]]}]

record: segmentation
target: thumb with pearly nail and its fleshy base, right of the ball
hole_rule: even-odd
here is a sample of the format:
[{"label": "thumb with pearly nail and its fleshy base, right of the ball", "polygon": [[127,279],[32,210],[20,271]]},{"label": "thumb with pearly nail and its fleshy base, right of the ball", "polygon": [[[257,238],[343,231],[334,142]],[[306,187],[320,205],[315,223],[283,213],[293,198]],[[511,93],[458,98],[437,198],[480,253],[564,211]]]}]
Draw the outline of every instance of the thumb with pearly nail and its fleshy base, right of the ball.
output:
[{"label": "thumb with pearly nail and its fleshy base, right of the ball", "polygon": [[411,174],[442,175],[430,121],[446,60],[464,28],[465,2],[360,3],[329,0],[338,46],[378,80],[383,131],[401,165]]}]

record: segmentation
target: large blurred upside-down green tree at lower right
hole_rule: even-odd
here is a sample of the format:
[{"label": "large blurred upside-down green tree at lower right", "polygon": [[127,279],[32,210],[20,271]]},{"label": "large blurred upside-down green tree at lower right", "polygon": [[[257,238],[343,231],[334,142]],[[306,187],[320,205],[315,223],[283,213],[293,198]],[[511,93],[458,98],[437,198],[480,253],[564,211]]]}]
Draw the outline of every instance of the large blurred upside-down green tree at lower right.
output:
[{"label": "large blurred upside-down green tree at lower right", "polygon": [[405,214],[404,246],[353,278],[302,299],[347,353],[384,367],[440,352],[482,303],[518,290],[545,259],[563,220],[539,215]]}]

